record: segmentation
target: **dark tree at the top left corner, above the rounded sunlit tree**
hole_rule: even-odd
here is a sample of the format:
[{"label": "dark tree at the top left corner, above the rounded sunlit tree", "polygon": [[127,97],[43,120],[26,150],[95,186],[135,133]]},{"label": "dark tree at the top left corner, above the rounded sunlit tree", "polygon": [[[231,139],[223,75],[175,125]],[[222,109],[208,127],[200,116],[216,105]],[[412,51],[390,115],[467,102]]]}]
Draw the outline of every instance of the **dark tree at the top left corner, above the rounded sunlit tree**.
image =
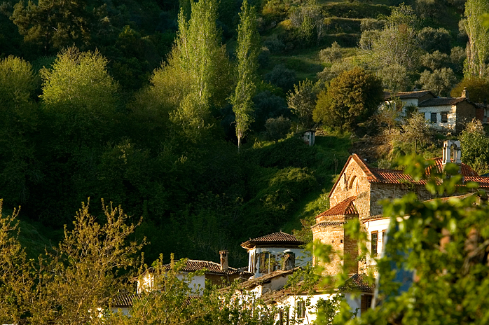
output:
[{"label": "dark tree at the top left corner, above the rounded sunlit tree", "polygon": [[39,0],[15,4],[11,16],[24,41],[43,48],[47,55],[66,46],[90,41],[87,1]]}]

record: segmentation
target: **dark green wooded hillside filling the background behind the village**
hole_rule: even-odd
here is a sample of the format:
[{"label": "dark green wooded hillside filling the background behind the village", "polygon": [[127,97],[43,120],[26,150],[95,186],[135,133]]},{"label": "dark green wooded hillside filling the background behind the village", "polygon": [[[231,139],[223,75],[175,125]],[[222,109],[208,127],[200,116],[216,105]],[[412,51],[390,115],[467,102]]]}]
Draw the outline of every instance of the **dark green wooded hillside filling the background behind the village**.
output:
[{"label": "dark green wooded hillside filling the background behind the village", "polygon": [[[240,242],[300,229],[300,219],[307,224],[328,207],[352,132],[376,129],[328,128],[307,146],[298,131],[317,124],[311,111],[294,111],[294,91],[309,85],[306,102],[315,106],[329,81],[355,66],[378,74],[385,90],[418,85],[447,95],[462,81],[464,1],[249,3],[262,46],[253,122],[238,153],[230,98],[242,1],[221,0],[215,12],[188,0],[3,1],[4,209],[21,205],[23,222],[56,241],[81,202],[90,197],[92,213],[103,215],[104,198],[135,222],[142,216],[136,234],[151,242],[147,261],[170,252],[215,261],[228,249],[230,265],[244,265]],[[212,23],[193,25],[198,19]],[[394,25],[415,43],[408,43],[411,56],[386,64],[378,60],[390,48],[382,35]],[[204,29],[213,35],[208,46],[184,52]],[[312,82],[294,90],[306,78]],[[24,240],[43,246],[46,237],[27,223]]]}]

